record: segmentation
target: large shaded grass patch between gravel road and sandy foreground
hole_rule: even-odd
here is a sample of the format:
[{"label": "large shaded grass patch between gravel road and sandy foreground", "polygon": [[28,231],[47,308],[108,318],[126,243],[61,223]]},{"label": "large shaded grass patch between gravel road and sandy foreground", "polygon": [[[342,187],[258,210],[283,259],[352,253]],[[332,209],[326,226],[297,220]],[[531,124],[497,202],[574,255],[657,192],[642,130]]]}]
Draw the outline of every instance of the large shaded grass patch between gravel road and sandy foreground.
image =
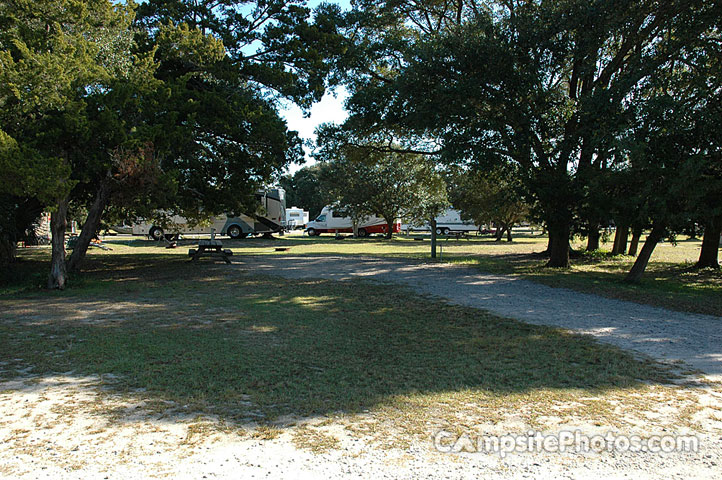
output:
[{"label": "large shaded grass patch between gravel road and sandy foreground", "polygon": [[240,424],[370,412],[419,435],[572,406],[616,425],[620,404],[683,395],[612,346],[388,286],[122,253],[91,256],[73,285],[0,297],[1,378],[113,374],[113,392],[161,410]]}]

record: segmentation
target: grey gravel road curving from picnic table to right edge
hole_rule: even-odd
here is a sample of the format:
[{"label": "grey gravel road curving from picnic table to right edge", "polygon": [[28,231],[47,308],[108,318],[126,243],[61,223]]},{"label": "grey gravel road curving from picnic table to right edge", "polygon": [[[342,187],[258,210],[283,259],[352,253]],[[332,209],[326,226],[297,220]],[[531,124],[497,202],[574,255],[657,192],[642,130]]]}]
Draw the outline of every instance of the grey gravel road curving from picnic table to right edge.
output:
[{"label": "grey gravel road curving from picnic table to right edge", "polygon": [[269,275],[406,285],[418,293],[504,317],[593,335],[664,362],[683,361],[712,380],[722,380],[722,317],[552,288],[452,264],[342,256],[240,258],[244,269]]}]

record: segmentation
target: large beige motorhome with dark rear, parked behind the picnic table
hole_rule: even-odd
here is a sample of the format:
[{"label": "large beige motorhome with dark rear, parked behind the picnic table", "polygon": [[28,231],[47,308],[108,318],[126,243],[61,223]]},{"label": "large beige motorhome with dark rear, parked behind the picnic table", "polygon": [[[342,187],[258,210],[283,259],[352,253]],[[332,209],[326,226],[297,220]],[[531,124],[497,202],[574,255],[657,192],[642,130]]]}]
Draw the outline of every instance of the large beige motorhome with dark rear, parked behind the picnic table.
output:
[{"label": "large beige motorhome with dark rear, parked behind the picnic table", "polygon": [[219,235],[228,235],[231,238],[245,238],[253,234],[270,234],[283,232],[286,224],[286,192],[282,188],[275,188],[256,193],[259,202],[259,212],[250,215],[229,217],[227,215],[212,217],[210,222],[191,225],[188,220],[175,215],[156,225],[151,222],[139,222],[133,225],[133,235],[147,235],[154,240],[177,236],[179,234],[203,235],[210,234],[215,229]]}]

